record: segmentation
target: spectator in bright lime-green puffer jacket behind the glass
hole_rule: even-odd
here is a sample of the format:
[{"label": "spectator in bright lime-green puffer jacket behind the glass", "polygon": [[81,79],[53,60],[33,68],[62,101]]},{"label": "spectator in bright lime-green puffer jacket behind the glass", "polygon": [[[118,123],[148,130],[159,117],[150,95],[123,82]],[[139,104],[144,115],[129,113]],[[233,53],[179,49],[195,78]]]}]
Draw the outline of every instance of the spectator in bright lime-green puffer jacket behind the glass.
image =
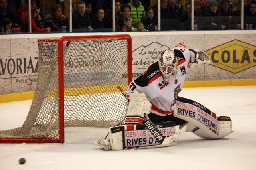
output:
[{"label": "spectator in bright lime-green puffer jacket behind the glass", "polygon": [[145,9],[139,0],[131,0],[128,5],[131,6],[130,16],[132,23],[135,24],[145,16]]}]

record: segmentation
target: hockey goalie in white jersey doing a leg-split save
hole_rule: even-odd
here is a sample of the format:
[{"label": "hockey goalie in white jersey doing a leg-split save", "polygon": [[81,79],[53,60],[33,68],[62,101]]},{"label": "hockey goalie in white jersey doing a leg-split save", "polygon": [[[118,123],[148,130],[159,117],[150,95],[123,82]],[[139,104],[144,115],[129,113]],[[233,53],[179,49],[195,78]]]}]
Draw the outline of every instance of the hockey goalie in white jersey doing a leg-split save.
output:
[{"label": "hockey goalie in white jersey doing a leg-split save", "polygon": [[108,138],[95,144],[105,150],[152,148],[176,144],[183,132],[219,139],[232,132],[230,117],[220,116],[200,103],[179,97],[188,67],[210,63],[209,56],[180,43],[132,81],[123,95],[129,105],[124,125],[109,128]]}]

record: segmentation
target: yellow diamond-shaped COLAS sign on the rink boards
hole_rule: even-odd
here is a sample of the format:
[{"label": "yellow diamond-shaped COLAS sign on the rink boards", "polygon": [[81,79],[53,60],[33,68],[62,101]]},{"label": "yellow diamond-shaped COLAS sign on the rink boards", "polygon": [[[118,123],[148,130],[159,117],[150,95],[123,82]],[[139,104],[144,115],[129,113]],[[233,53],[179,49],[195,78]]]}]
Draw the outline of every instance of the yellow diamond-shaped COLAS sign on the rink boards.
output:
[{"label": "yellow diamond-shaped COLAS sign on the rink boards", "polygon": [[205,51],[211,65],[232,73],[239,73],[256,65],[256,46],[232,40]]}]

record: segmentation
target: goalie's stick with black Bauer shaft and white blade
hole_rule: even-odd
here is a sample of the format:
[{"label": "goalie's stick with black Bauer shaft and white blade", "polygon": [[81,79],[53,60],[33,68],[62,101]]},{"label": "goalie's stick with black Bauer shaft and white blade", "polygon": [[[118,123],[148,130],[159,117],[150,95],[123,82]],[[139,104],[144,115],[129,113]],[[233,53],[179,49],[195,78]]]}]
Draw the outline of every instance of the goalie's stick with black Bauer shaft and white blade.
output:
[{"label": "goalie's stick with black Bauer shaft and white blade", "polygon": [[[124,95],[124,97],[126,97],[126,99],[129,102],[129,94],[127,94],[126,92],[124,92],[124,90],[122,89],[122,87],[120,87],[120,85],[117,87],[119,89],[119,91]],[[156,140],[161,144],[169,144],[171,143],[173,140],[176,140],[176,138],[178,138],[178,136],[180,136],[183,132],[185,132],[186,130],[186,123],[184,123],[183,125],[181,125],[179,127],[179,132],[175,133],[174,135],[170,136],[170,137],[165,137],[159,130],[158,128],[156,128],[156,126],[154,125],[154,123],[152,123],[152,121],[149,119],[148,115],[144,115],[144,124],[146,125],[146,127],[148,128],[148,130],[150,130],[150,132],[154,135],[154,137],[156,138]]]}]

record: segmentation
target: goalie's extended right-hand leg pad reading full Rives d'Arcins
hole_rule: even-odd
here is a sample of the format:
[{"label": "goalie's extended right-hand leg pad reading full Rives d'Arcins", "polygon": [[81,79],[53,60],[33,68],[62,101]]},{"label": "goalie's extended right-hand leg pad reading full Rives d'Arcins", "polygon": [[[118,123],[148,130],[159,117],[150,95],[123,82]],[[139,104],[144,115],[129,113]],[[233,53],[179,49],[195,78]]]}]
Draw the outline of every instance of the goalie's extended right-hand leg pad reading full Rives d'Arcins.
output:
[{"label": "goalie's extended right-hand leg pad reading full Rives d'Arcins", "polygon": [[186,132],[190,131],[205,139],[218,139],[232,133],[232,121],[230,117],[220,116],[195,101],[178,97],[173,113],[188,121]]}]

